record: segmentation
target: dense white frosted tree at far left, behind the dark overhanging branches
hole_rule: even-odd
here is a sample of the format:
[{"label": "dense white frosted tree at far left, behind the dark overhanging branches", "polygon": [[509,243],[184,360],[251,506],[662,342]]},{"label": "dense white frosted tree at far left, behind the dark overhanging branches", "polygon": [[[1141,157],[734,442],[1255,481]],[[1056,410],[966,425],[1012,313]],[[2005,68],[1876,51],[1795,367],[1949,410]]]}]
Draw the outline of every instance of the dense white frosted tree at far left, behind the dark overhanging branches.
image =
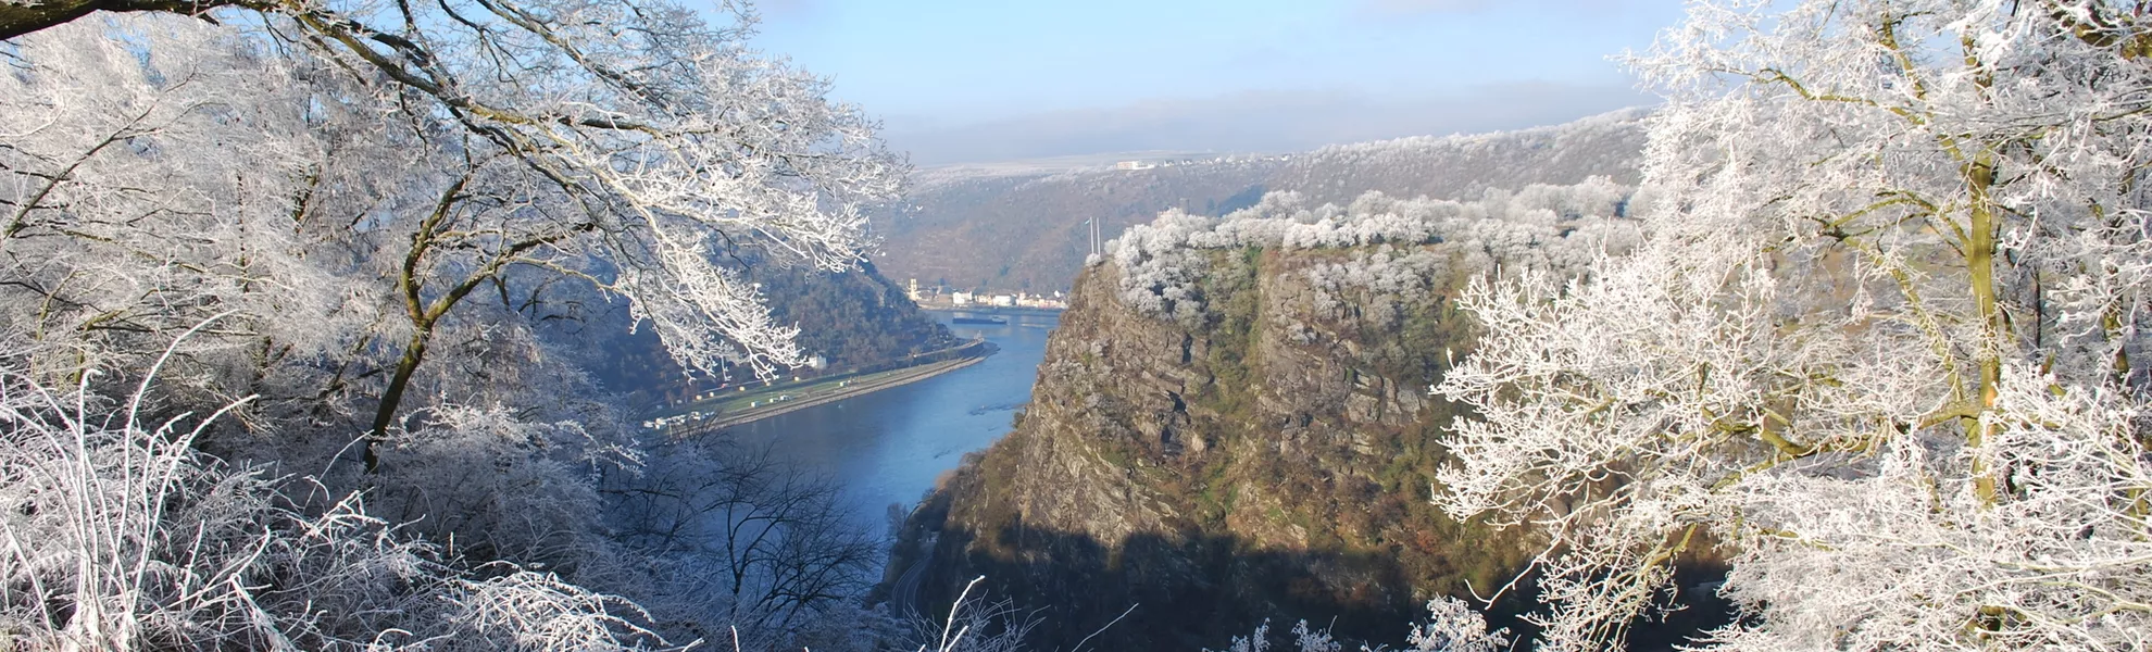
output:
[{"label": "dense white frosted tree at far left, behind the dark overhanging branches", "polygon": [[32,370],[65,385],[90,366],[133,374],[176,331],[226,314],[176,344],[157,389],[202,409],[265,394],[232,420],[260,426],[265,407],[331,385],[323,370],[355,357],[387,293],[344,275],[342,222],[293,211],[329,151],[310,136],[301,71],[207,24],[136,26],[9,45],[0,321],[37,342]]}]

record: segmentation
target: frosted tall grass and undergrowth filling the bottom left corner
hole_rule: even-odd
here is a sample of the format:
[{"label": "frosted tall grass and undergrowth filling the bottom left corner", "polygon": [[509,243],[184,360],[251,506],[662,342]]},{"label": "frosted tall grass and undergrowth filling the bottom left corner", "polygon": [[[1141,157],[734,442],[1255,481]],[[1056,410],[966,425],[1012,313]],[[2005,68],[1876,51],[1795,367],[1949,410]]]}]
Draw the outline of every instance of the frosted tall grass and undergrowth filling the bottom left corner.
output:
[{"label": "frosted tall grass and undergrowth filling the bottom left corner", "polygon": [[[194,450],[0,359],[0,641],[30,650],[661,650],[639,607],[510,564],[458,570],[359,495]],[[288,495],[280,486],[312,486]]]}]

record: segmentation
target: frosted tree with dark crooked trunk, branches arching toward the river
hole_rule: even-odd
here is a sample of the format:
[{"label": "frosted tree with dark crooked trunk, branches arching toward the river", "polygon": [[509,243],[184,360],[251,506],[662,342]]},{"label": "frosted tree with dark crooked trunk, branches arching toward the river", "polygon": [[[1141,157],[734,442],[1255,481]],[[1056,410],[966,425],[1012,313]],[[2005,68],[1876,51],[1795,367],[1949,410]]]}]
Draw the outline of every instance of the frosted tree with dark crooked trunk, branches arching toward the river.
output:
[{"label": "frosted tree with dark crooked trunk, branches arching toward the river", "polygon": [[[0,24],[56,6],[9,4]],[[346,342],[329,349],[385,357],[385,370],[308,364],[338,370],[329,387],[385,381],[368,392],[370,463],[473,295],[527,312],[557,297],[560,280],[590,284],[626,299],[689,368],[801,364],[794,329],[719,263],[753,250],[773,265],[846,269],[867,245],[863,209],[902,183],[904,166],[856,108],[742,45],[753,15],[738,6],[723,13],[732,24],[669,2],[133,9],[211,11],[235,28],[69,17],[9,32],[19,37],[0,80],[4,247],[22,263],[15,275],[39,278],[13,284],[22,306],[62,308],[34,310],[24,331],[127,325],[157,340],[202,306],[166,299],[166,286],[209,275],[226,299],[293,297],[280,306],[359,321],[271,338],[256,357],[336,334]],[[241,19],[247,11],[256,17]],[[84,52],[121,84],[82,73]],[[183,250],[192,260],[138,243],[176,232],[204,232]],[[245,269],[293,258],[308,258],[306,273]],[[90,265],[112,269],[88,275]],[[366,290],[336,290],[353,284]],[[99,308],[110,301],[86,286],[133,310]]]}]

